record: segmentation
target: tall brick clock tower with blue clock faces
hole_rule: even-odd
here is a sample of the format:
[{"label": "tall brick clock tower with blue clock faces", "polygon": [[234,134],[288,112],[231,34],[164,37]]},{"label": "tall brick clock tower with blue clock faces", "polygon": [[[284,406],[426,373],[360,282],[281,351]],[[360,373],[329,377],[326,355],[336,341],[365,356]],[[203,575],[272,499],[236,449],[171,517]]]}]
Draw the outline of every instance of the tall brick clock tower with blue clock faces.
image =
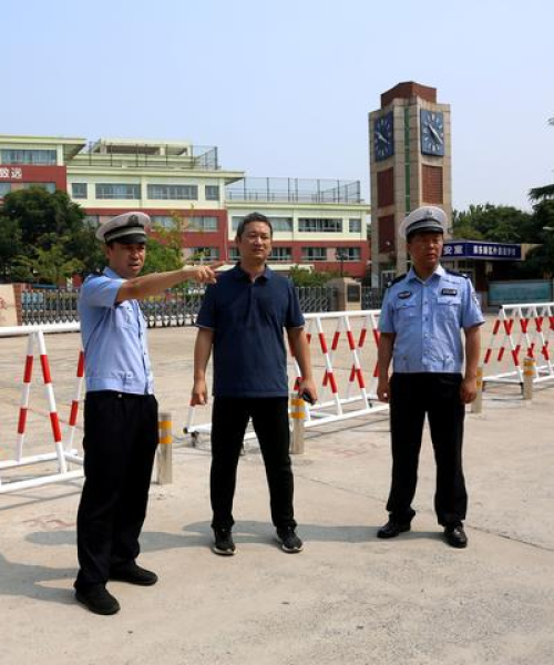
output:
[{"label": "tall brick clock tower with blue clock faces", "polygon": [[407,270],[398,228],[408,213],[437,205],[452,215],[450,105],[413,81],[381,94],[369,113],[371,282],[384,286]]}]

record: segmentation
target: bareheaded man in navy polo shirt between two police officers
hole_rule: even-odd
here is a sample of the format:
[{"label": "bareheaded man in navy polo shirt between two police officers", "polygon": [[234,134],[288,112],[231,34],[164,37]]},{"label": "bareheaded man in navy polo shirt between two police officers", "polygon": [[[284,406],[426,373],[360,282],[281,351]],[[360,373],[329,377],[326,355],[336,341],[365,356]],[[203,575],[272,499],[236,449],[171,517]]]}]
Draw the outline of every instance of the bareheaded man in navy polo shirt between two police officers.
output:
[{"label": "bareheaded man in navy polo shirt between two police officers", "polygon": [[208,399],[206,366],[214,348],[211,499],[216,554],[235,554],[233,498],[240,448],[252,418],[266,467],[271,520],[285,552],[302,550],[296,534],[289,456],[287,352],[300,367],[298,392],[316,401],[304,317],[289,279],[266,266],[273,228],[259,213],[237,228],[239,263],[209,286],[196,325],[193,405]]}]

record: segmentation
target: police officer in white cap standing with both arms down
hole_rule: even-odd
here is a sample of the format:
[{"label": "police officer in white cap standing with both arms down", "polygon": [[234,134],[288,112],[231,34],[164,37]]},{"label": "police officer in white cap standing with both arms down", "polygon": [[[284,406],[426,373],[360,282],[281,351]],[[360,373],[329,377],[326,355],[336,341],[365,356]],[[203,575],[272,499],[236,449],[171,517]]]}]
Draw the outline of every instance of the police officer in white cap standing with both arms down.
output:
[{"label": "police officer in white cap standing with both arms down", "polygon": [[449,545],[465,548],[463,420],[465,405],[476,395],[484,319],[471,280],[440,265],[445,229],[447,215],[434,206],[420,207],[406,217],[400,233],[412,267],[391,283],[381,308],[377,395],[390,402],[392,481],[389,521],[377,535],[394,538],[410,530],[427,413],[437,462],[437,518]]}]

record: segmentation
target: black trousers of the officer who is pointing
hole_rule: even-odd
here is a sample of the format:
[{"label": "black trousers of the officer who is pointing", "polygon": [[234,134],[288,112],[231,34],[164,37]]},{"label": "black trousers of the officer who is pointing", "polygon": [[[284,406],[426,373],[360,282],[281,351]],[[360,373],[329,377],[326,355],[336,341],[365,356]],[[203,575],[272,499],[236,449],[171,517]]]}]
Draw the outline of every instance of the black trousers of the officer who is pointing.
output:
[{"label": "black trousers of the officer who is pointing", "polygon": [[110,570],[138,555],[157,427],[153,395],[86,393],[75,589],[105,584]]}]

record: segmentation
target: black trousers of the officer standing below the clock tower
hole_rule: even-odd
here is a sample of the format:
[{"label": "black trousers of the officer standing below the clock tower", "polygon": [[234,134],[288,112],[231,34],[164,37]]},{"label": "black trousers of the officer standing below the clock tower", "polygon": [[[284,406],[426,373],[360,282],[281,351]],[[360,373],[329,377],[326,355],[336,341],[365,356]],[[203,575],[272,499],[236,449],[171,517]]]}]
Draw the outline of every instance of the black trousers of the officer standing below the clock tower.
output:
[{"label": "black trousers of the officer standing below the clock tower", "polygon": [[393,374],[390,383],[392,483],[387,510],[409,523],[418,482],[418,462],[425,413],[437,462],[434,510],[439,524],[465,519],[468,494],[462,471],[465,407],[459,374]]}]

